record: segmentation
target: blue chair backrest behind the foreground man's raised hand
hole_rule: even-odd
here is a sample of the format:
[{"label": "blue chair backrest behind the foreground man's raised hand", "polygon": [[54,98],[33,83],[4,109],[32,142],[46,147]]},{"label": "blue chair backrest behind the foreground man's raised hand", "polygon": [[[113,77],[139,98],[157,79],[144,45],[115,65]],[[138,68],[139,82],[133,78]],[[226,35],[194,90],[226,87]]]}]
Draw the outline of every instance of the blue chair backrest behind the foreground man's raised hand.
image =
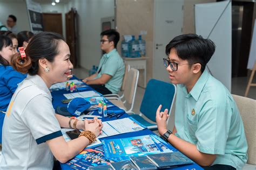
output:
[{"label": "blue chair backrest behind the foreground man's raised hand", "polygon": [[175,95],[176,86],[174,84],[151,79],[147,83],[140,112],[151,121],[156,122],[156,111],[159,105],[163,106],[161,111],[168,109],[170,114]]}]

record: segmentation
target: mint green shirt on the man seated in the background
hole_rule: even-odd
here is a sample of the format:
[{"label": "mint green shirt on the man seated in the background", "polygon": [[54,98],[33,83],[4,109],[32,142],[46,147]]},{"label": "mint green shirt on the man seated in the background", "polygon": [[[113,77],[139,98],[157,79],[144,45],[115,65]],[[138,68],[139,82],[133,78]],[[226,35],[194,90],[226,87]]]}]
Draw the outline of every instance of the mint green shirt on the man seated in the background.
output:
[{"label": "mint green shirt on the man seated in the background", "polygon": [[101,70],[99,74],[95,77],[95,79],[101,77],[102,74],[111,75],[112,78],[105,84],[105,87],[109,89],[112,93],[118,93],[122,86],[125,66],[124,61],[118,54],[116,48],[102,56],[102,59],[100,59],[99,62],[99,68],[97,72],[100,68]]}]

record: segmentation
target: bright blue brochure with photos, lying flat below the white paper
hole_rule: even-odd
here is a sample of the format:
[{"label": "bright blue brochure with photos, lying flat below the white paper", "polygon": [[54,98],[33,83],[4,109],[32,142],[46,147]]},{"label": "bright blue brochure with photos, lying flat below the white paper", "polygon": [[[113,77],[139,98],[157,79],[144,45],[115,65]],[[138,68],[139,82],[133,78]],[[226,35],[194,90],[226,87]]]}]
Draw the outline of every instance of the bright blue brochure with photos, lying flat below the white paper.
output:
[{"label": "bright blue brochure with photos, lying flat below the white paper", "polygon": [[156,134],[102,140],[106,158],[172,152]]}]

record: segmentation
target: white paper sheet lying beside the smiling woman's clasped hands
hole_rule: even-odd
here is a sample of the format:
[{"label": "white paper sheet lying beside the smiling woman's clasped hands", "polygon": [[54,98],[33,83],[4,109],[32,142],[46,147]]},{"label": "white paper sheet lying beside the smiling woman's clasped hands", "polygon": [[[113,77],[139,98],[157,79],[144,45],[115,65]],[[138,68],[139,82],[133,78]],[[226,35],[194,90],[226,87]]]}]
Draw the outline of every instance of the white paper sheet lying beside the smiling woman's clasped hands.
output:
[{"label": "white paper sheet lying beside the smiling woman's clasped hands", "polygon": [[117,119],[114,121],[106,121],[103,123],[102,134],[98,138],[114,136],[116,134],[136,132],[145,129],[146,127],[139,124],[132,117]]}]

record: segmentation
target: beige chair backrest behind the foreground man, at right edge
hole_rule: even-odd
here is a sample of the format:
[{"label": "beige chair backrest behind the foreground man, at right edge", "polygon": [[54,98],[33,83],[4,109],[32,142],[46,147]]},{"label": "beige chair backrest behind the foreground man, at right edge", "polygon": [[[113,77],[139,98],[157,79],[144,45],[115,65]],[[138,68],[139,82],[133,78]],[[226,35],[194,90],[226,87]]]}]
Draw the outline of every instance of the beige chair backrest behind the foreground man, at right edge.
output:
[{"label": "beige chair backrest behind the foreground man, at right edge", "polygon": [[247,164],[256,165],[256,100],[252,98],[232,95],[244,123],[245,135],[248,144]]}]

